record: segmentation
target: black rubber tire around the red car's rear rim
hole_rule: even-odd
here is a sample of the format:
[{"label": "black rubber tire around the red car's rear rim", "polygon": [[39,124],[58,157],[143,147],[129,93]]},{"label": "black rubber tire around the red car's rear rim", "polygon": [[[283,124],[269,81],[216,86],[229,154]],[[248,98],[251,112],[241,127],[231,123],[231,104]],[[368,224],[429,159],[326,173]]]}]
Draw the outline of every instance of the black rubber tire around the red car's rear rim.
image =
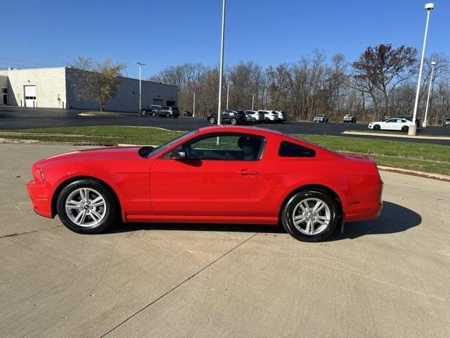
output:
[{"label": "black rubber tire around the red car's rear rim", "polygon": [[[300,204],[300,202],[304,201],[305,199],[322,201],[324,204],[326,204],[326,207],[328,207],[330,216],[328,225],[324,226],[323,229],[321,229],[320,232],[317,234],[304,234],[294,224],[293,213],[296,211],[297,206]],[[319,213],[322,212],[326,213],[326,210],[324,210],[326,209],[326,207],[324,207],[322,211],[320,211]],[[321,217],[319,213],[317,215]],[[314,217],[316,217],[315,215],[316,214],[314,214]],[[335,199],[326,192],[322,192],[321,190],[316,189],[304,190],[290,197],[290,199],[286,202],[285,206],[283,207],[283,211],[281,211],[281,223],[283,224],[285,230],[292,237],[302,242],[320,242],[323,239],[326,239],[326,237],[330,236],[330,234],[332,234],[335,231],[339,218],[340,218],[340,208],[338,202],[335,201]],[[300,228],[302,227],[300,226]]]}]

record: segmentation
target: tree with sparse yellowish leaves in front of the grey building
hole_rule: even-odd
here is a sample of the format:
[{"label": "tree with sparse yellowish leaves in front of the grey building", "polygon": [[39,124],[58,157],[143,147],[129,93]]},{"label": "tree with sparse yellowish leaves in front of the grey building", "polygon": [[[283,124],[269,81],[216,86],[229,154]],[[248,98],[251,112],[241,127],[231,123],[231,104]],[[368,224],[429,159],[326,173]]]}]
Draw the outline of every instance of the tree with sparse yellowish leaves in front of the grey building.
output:
[{"label": "tree with sparse yellowish leaves in front of the grey building", "polygon": [[91,58],[78,56],[70,66],[83,70],[75,73],[76,78],[72,79],[77,99],[94,101],[99,104],[100,111],[103,111],[105,104],[117,93],[125,64],[113,63],[109,57],[104,61],[93,61]]}]

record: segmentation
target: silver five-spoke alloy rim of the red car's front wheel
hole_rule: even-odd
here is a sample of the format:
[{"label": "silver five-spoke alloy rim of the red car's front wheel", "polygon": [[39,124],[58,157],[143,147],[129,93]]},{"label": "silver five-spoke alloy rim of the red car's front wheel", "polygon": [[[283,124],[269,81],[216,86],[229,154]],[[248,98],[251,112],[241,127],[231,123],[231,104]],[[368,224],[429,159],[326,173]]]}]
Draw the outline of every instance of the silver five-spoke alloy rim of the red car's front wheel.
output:
[{"label": "silver five-spoke alloy rim of the red car's front wheel", "polygon": [[98,225],[106,214],[105,198],[91,188],[79,188],[65,200],[65,213],[80,227]]}]

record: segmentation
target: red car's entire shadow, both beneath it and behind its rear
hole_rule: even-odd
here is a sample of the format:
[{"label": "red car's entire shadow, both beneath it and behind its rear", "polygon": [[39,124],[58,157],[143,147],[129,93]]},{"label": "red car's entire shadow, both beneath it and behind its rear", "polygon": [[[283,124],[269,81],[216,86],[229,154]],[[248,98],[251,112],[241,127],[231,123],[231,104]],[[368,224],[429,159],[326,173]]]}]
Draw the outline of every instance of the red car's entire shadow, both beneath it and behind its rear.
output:
[{"label": "red car's entire shadow, both beneath it and behind its rear", "polygon": [[[392,234],[416,227],[422,221],[418,213],[391,202],[383,202],[383,210],[376,220],[345,223],[345,231],[335,233],[325,239],[326,242],[340,239],[354,239],[368,234]],[[139,230],[181,230],[216,232],[261,232],[266,234],[286,234],[282,226],[245,225],[245,224],[204,224],[204,223],[120,223],[111,227],[107,233],[133,232]]]}]

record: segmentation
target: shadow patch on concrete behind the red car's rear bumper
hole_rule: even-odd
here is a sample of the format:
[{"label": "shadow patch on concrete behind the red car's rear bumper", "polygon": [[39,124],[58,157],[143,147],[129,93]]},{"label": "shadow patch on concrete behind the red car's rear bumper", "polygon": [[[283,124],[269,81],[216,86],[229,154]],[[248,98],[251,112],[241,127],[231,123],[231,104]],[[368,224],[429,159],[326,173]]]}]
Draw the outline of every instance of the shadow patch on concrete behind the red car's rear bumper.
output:
[{"label": "shadow patch on concrete behind the red car's rear bumper", "polygon": [[340,239],[354,239],[369,234],[394,234],[416,227],[422,222],[422,217],[404,206],[383,201],[383,209],[375,220],[345,223],[344,233],[336,231],[325,241],[332,242]]}]

